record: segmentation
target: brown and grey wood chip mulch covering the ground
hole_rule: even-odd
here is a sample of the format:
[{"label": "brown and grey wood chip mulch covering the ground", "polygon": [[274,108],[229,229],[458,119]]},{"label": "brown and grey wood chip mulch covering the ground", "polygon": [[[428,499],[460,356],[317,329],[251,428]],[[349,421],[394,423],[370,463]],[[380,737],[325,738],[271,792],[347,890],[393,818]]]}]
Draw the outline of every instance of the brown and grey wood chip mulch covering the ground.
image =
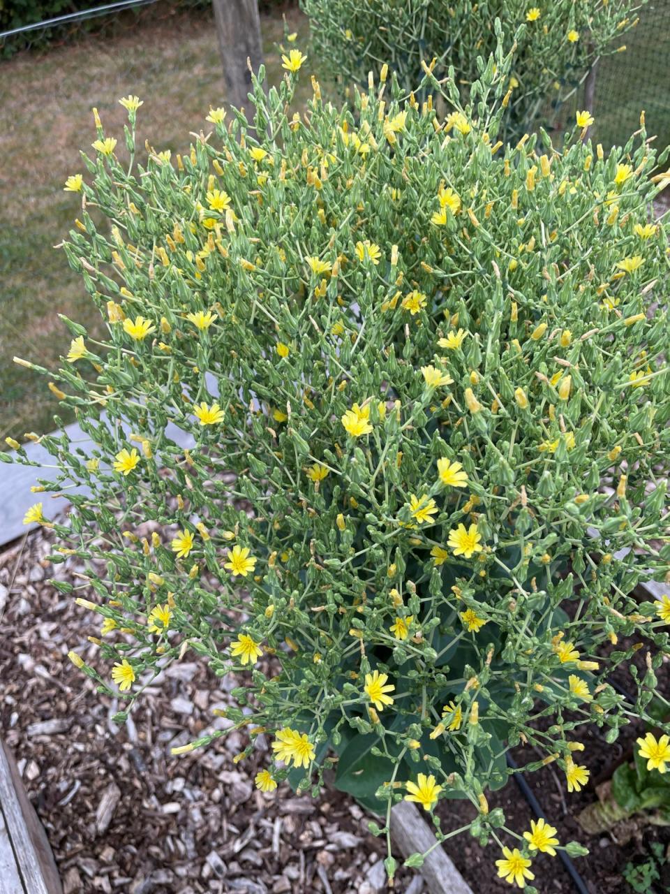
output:
[{"label": "brown and grey wood chip mulch covering the ground", "polygon": [[[268,796],[255,789],[270,750],[263,737],[237,765],[246,744],[238,733],[170,754],[228,722],[212,711],[230,704],[239,680],[218,679],[187,655],[147,688],[126,726],[112,721],[120,704],[67,659],[77,648],[96,665],[96,646],[86,648],[99,634],[95,618],[47,583],[80,583],[73,573],[83,569],[52,566],[49,539],[37,531],[0,550],[0,736],[45,826],[64,894],[385,890],[385,843],[353,800],[331,789],[317,799],[285,785]],[[395,890],[420,894],[423,880],[402,870]]]}]

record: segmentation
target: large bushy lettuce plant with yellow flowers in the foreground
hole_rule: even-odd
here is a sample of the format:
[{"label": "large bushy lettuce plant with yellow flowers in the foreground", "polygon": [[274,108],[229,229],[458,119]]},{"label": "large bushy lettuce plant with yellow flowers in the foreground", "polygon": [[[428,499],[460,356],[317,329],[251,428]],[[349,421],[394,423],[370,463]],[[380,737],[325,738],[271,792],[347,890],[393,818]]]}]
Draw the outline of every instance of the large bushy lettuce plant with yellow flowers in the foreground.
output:
[{"label": "large bushy lettuce plant with yellow flowers in the foreground", "polygon": [[[104,563],[82,583],[100,661],[71,659],[118,684],[121,719],[195,653],[245,685],[178,751],[269,736],[260,789],[331,768],[380,834],[402,797],[467,797],[523,883],[565,842],[490,811],[507,749],[579,790],[580,727],[614,742],[646,717],[667,650],[663,603],[632,595],[670,556],[666,154],[643,126],[609,155],[582,125],[504,147],[501,50],[465,105],[428,70],[418,105],[384,69],[353,107],[313,80],[293,114],[304,62],[267,95],[259,72],[255,136],[212,109],[185,156],[138,162],[135,97],[130,165],[97,120],[64,249],[107,336],[66,321],[49,374],[96,450],[41,439],[45,491],[87,490],[67,524],[29,518],[54,561]],[[607,676],[640,637],[632,709]]]}]

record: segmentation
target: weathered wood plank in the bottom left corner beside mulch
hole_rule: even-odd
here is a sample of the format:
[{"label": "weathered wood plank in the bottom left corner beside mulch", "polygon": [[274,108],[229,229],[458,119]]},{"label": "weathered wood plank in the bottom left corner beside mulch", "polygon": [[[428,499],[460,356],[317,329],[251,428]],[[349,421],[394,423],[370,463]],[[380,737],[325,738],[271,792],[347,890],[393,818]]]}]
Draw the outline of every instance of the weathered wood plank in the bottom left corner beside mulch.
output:
[{"label": "weathered wood plank in the bottom left corner beside mulch", "polygon": [[[11,842],[20,894],[63,894],[54,855],[33,806],[29,802],[13,756],[0,742],[0,812]],[[11,876],[10,876],[11,877]],[[0,876],[4,894],[4,878]],[[12,889],[10,891],[13,894]]]}]

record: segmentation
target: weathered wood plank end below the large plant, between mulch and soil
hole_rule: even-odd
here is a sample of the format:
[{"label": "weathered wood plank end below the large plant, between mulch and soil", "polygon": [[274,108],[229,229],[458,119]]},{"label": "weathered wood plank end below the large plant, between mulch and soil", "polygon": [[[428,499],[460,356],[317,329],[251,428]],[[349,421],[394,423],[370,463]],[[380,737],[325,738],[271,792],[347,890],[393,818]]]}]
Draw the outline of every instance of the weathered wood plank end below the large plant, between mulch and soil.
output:
[{"label": "weathered wood plank end below the large plant, between mulch and soil", "polygon": [[400,801],[391,810],[391,838],[403,856],[425,854],[419,872],[428,885],[431,894],[473,894],[456,866],[447,856],[447,851],[435,838],[431,827],[423,819],[418,807],[408,801]]}]

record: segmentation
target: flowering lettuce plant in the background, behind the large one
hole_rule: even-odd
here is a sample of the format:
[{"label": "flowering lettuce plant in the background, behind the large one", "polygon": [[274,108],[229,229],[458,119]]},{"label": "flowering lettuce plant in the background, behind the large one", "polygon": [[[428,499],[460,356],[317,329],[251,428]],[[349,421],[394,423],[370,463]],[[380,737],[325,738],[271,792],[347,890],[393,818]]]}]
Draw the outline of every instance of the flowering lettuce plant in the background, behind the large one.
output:
[{"label": "flowering lettuce plant in the background, behind the large one", "polygon": [[453,66],[464,97],[480,76],[482,57],[497,46],[499,17],[510,46],[515,37],[504,125],[516,139],[534,123],[552,120],[600,56],[625,49],[616,38],[637,24],[636,13],[645,3],[301,0],[315,49],[334,76],[362,85],[368,72],[378,72],[386,62],[409,91],[422,80],[425,60],[438,77]]}]

